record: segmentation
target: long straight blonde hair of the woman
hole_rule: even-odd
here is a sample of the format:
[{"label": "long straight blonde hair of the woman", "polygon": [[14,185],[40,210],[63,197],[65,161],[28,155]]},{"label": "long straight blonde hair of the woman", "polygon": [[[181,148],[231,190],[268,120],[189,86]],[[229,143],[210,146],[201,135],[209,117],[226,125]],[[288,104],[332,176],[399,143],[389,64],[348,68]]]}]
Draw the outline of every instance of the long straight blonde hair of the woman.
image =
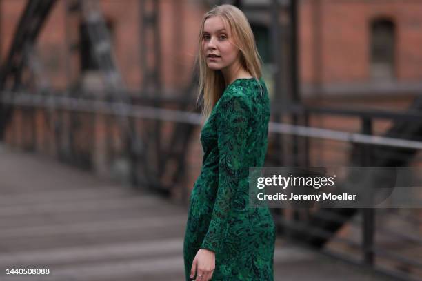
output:
[{"label": "long straight blonde hair of the woman", "polygon": [[203,26],[208,18],[216,16],[221,17],[225,25],[228,25],[228,28],[231,30],[232,43],[240,51],[241,67],[248,71],[257,81],[262,75],[261,56],[259,56],[254,34],[245,14],[236,6],[228,4],[214,6],[212,10],[203,16],[201,29],[199,30],[199,54],[197,56],[197,63],[199,64],[199,87],[197,103],[203,92],[203,120],[208,119],[212,108],[221,97],[221,94],[223,94],[226,86],[221,71],[211,70],[207,66],[206,58],[203,55]]}]

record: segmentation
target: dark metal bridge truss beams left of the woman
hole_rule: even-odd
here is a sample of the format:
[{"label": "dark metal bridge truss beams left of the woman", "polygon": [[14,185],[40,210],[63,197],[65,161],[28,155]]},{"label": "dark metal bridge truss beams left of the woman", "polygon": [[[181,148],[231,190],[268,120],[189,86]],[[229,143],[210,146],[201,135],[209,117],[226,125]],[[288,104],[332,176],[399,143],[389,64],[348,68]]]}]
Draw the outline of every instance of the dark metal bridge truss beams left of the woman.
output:
[{"label": "dark metal bridge truss beams left of the woman", "polygon": [[[34,92],[39,92],[43,89],[43,94],[52,94],[52,89],[48,89],[48,81],[42,76],[42,67],[33,52],[34,43],[37,40],[42,24],[46,21],[48,13],[54,6],[56,1],[42,1],[30,0],[26,6],[25,12],[19,21],[19,26],[14,37],[14,43],[10,48],[8,60],[3,65],[1,71],[2,91],[17,92],[18,90],[28,90],[29,87],[38,86]],[[159,41],[158,41],[158,23],[159,23],[159,6],[157,1],[141,0],[141,19],[142,40],[150,40],[144,34],[148,32],[154,34],[153,50],[142,48],[142,58],[145,67],[143,84],[147,93],[152,93],[150,96],[137,96],[137,93],[130,93],[125,90],[123,79],[117,65],[115,63],[114,54],[112,52],[112,44],[110,42],[110,35],[106,27],[106,22],[103,19],[101,10],[97,1],[88,0],[69,0],[66,1],[70,17],[75,14],[85,23],[88,31],[90,44],[92,45],[92,57],[99,66],[99,71],[103,75],[103,81],[106,84],[106,91],[103,96],[96,96],[95,99],[101,99],[119,105],[120,112],[114,112],[117,116],[117,122],[121,130],[120,137],[123,138],[125,147],[127,148],[126,157],[130,160],[130,178],[131,182],[136,186],[150,187],[155,191],[160,191],[163,194],[170,194],[172,185],[183,180],[183,172],[185,167],[185,158],[188,152],[188,144],[190,137],[194,132],[195,126],[186,123],[175,123],[170,133],[170,145],[161,145],[161,123],[158,119],[145,119],[143,126],[135,125],[134,118],[128,118],[122,114],[125,105],[147,103],[159,107],[165,104],[176,104],[180,110],[186,110],[192,107],[192,96],[194,93],[194,85],[197,80],[193,76],[192,83],[183,91],[183,96],[172,101],[165,101],[159,93],[161,91],[161,81],[159,74]],[[144,46],[148,44],[143,44]],[[69,49],[72,50],[71,46]],[[154,54],[156,59],[153,65],[146,64],[146,56]],[[28,81],[22,81],[21,76],[23,71],[29,71],[37,83],[32,83],[30,86]],[[32,81],[34,82],[34,81]],[[70,95],[75,97],[81,96],[81,91],[70,90]],[[54,94],[54,96],[58,96]],[[10,98],[10,96],[3,96]],[[90,97],[92,98],[92,96]],[[188,101],[190,100],[190,102]],[[117,109],[115,108],[115,110]],[[1,118],[0,118],[0,133],[3,138],[4,130],[10,122],[12,116],[12,103],[1,104]],[[25,114],[33,114],[32,110],[26,110]],[[74,116],[74,114],[72,115]],[[70,118],[71,127],[76,121]],[[57,128],[57,125],[53,127]],[[71,137],[71,136],[70,136]],[[72,143],[72,141],[70,141]],[[73,151],[70,154],[77,154]],[[63,158],[63,157],[62,157]],[[80,163],[79,163],[80,164]],[[165,183],[161,178],[167,178]]]}]

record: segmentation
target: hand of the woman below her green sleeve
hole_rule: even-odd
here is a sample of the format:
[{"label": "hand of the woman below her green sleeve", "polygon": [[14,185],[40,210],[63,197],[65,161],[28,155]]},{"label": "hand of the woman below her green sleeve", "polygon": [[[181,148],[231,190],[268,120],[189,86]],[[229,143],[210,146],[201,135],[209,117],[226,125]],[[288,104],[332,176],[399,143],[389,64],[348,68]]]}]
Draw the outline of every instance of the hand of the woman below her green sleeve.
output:
[{"label": "hand of the woman below her green sleeve", "polygon": [[190,269],[190,278],[193,278],[197,270],[198,281],[208,281],[212,277],[215,269],[215,253],[208,249],[199,249],[197,255],[192,262],[192,269]]}]

